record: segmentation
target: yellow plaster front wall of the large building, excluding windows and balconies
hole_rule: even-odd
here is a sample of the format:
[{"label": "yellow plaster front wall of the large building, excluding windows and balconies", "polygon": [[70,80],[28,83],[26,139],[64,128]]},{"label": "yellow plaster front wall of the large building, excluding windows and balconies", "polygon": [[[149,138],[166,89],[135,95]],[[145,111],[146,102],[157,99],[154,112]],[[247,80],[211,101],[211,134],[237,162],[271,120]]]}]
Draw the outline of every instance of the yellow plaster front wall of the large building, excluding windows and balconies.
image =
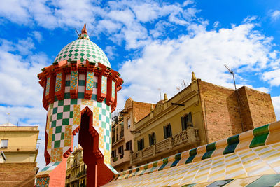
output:
[{"label": "yellow plaster front wall of the large building, excluding windows and balconies", "polygon": [[[172,102],[184,104],[185,106],[172,105]],[[193,127],[199,130],[201,140],[200,145],[207,144],[207,137],[204,133],[202,105],[200,102],[197,81],[195,81],[195,83],[192,83],[168,101],[158,102],[153,112],[136,124],[135,130],[140,131],[141,133],[137,133],[134,136],[135,151],[138,151],[137,141],[142,138],[144,138],[144,148],[150,146],[148,136],[153,132],[155,132],[156,143],[163,141],[165,139],[163,127],[169,123],[172,126],[172,136],[181,133],[181,117],[189,112],[192,113]],[[189,148],[190,147],[186,147],[186,150]],[[183,149],[180,151],[185,151]],[[170,154],[173,154],[173,152]]]}]

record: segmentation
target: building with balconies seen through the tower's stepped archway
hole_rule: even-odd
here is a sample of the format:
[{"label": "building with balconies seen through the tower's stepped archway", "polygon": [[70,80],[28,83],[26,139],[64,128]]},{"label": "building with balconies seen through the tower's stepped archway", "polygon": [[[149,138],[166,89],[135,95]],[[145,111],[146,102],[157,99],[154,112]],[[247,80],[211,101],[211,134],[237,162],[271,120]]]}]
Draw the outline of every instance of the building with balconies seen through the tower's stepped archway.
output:
[{"label": "building with balconies seen through the tower's stepped archway", "polygon": [[65,186],[87,186],[87,166],[83,162],[83,148],[80,145],[67,158]]}]

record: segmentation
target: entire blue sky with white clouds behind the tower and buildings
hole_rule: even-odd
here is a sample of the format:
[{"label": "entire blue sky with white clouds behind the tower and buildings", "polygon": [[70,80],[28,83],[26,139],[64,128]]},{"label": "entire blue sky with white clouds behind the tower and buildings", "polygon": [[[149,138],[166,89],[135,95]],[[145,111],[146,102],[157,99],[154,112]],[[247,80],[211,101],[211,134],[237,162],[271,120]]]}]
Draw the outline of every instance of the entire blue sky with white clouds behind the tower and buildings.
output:
[{"label": "entire blue sky with white clouds behind the tower and buildings", "polygon": [[272,96],[280,119],[280,1],[1,1],[0,123],[38,125],[39,167],[44,165],[43,89],[36,74],[52,64],[75,28],[87,23],[91,41],[104,50],[125,84],[118,94],[158,102],[190,83],[246,85]]}]

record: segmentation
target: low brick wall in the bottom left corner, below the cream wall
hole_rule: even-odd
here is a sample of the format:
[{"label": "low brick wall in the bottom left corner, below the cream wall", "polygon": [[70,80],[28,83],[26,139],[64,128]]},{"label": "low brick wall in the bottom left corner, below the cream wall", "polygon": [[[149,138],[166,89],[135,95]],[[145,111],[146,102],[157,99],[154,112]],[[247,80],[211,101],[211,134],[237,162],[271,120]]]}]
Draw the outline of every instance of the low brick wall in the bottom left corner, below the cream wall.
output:
[{"label": "low brick wall in the bottom left corner, below the cream wall", "polygon": [[36,169],[36,163],[0,164],[0,186],[34,186]]}]

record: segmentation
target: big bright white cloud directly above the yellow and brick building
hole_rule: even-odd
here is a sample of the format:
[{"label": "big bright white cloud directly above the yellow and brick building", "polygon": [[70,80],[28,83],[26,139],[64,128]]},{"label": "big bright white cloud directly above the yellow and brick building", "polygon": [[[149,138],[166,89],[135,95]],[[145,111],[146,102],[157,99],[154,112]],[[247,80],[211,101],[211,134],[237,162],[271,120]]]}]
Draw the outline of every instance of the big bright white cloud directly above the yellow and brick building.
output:
[{"label": "big bright white cloud directly above the yellow and brick building", "polygon": [[[172,97],[183,80],[190,83],[192,71],[204,81],[233,88],[232,76],[224,64],[238,69],[237,74],[246,74],[261,72],[275,60],[270,55],[274,53],[270,51],[272,39],[254,30],[254,26],[244,23],[231,29],[207,31],[197,25],[200,29],[192,36],[151,41],[141,57],[128,60],[121,67],[125,86],[118,99],[124,97],[123,103],[125,98],[133,96],[135,100],[157,102],[158,88]],[[244,81],[252,88],[250,82]],[[264,87],[255,89],[269,92]]]}]

